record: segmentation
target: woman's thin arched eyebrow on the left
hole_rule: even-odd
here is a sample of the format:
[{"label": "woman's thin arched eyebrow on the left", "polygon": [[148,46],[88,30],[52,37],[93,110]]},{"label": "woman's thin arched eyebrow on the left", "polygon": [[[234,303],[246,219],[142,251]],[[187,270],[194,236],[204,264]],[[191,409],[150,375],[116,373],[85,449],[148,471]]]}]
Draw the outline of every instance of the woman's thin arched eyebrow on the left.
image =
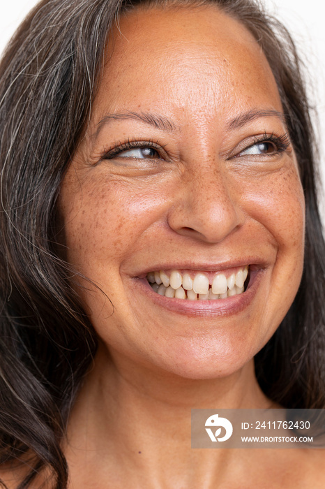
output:
[{"label": "woman's thin arched eyebrow on the left", "polygon": [[145,124],[149,124],[149,126],[153,126],[155,129],[160,129],[161,131],[168,133],[173,133],[176,131],[176,129],[178,129],[172,121],[163,115],[152,114],[151,112],[133,112],[128,110],[127,112],[118,112],[116,114],[105,115],[105,117],[98,122],[97,129],[91,137],[96,138],[103,126],[105,126],[105,124],[109,124],[110,121],[126,119],[141,121]]}]

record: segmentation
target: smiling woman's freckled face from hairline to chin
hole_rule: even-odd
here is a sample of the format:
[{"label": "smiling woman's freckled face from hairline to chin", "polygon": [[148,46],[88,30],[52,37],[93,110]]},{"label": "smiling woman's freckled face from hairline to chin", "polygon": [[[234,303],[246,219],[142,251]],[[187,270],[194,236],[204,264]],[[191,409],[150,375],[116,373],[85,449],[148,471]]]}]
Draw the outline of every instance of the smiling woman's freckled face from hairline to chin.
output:
[{"label": "smiling woman's freckled face from hairline to chin", "polygon": [[[232,374],[273,335],[303,266],[271,69],[214,6],[133,10],[106,60],[60,200],[68,261],[99,288],[80,279],[86,312],[116,362]],[[160,270],[173,286],[158,293]]]}]

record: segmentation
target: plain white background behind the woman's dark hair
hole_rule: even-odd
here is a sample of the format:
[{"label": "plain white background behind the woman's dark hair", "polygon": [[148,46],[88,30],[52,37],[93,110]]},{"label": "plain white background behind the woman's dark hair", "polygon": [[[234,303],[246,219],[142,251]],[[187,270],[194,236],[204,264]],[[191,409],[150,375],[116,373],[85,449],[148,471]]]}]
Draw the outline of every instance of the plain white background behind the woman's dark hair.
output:
[{"label": "plain white background behind the woman's dark hair", "polygon": [[[289,28],[303,54],[307,66],[310,98],[319,115],[318,140],[325,182],[325,4],[322,6],[322,0],[263,1],[268,10]],[[18,24],[36,3],[36,0],[1,0],[0,52]],[[324,203],[325,198],[325,209]],[[325,212],[323,214],[325,216]]]}]

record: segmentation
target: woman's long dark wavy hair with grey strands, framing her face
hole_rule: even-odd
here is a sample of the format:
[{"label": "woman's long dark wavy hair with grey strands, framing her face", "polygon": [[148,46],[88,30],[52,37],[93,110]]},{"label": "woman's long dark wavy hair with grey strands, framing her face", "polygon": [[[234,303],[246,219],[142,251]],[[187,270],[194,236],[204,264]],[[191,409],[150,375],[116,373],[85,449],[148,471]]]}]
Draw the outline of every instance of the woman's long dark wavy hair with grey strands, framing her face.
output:
[{"label": "woman's long dark wavy hair with grey strands, framing her face", "polygon": [[269,60],[305,194],[305,265],[292,307],[256,356],[256,373],[264,393],[285,407],[325,407],[325,246],[314,137],[285,27],[252,0],[43,0],[0,64],[0,463],[27,466],[19,489],[42,471],[53,488],[68,481],[61,444],[96,335],[75,272],[58,253],[56,200],[89,120],[109,29],[140,3],[214,4],[245,25]]}]

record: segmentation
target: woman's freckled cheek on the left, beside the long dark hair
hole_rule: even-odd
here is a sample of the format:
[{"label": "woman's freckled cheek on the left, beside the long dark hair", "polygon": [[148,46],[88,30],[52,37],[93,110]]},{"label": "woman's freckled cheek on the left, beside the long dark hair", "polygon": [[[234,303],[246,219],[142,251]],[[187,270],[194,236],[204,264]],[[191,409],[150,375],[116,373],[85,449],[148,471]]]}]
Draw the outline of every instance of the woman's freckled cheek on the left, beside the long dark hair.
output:
[{"label": "woman's freckled cheek on the left, beside the long dark hair", "polygon": [[61,214],[67,258],[88,277],[96,265],[119,268],[141,248],[141,238],[165,212],[167,199],[149,182],[98,177],[83,184],[64,182]]}]

